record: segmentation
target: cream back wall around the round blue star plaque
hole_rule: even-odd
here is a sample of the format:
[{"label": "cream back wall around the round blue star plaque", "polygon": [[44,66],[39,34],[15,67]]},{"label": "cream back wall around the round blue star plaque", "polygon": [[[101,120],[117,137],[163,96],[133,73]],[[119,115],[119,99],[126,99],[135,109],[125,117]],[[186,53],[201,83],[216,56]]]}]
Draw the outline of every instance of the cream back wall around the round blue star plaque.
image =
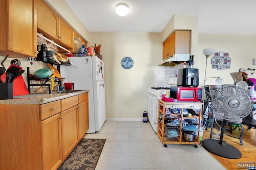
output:
[{"label": "cream back wall around the round blue star plaque", "polygon": [[[88,46],[101,44],[105,66],[106,117],[141,118],[147,109],[147,89],[154,84],[154,68],[162,58],[160,33],[90,32]],[[122,68],[131,57],[134,66]],[[143,79],[146,76],[146,79]]]}]

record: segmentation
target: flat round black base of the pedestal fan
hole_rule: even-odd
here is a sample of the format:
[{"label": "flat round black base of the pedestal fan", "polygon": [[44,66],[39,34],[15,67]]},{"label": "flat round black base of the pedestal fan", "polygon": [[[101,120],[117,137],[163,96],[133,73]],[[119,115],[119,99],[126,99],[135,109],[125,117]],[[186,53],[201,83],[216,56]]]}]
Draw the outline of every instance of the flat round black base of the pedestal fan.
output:
[{"label": "flat round black base of the pedestal fan", "polygon": [[238,159],[242,156],[238,149],[224,141],[222,141],[222,144],[219,144],[219,140],[204,139],[202,145],[206,150],[224,158]]}]

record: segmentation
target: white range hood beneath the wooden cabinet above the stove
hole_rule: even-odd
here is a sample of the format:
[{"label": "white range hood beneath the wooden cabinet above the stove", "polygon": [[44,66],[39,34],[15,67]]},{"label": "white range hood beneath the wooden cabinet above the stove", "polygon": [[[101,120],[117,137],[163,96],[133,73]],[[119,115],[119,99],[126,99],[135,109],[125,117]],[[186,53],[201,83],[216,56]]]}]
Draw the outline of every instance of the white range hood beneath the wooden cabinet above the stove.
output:
[{"label": "white range hood beneath the wooden cabinet above the stove", "polygon": [[190,54],[174,54],[163,60],[158,66],[175,66],[189,60]]}]

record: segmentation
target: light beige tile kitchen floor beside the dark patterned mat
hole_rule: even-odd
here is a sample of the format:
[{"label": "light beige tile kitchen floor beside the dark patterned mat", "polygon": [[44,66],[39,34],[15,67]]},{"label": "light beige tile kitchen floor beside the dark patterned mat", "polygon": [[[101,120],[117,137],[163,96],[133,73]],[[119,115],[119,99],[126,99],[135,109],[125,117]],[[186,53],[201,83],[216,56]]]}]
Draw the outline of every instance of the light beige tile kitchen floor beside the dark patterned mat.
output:
[{"label": "light beige tile kitchen floor beside the dark patterned mat", "polygon": [[150,123],[105,121],[84,138],[107,139],[96,170],[225,170],[206,150],[194,145],[162,145]]}]

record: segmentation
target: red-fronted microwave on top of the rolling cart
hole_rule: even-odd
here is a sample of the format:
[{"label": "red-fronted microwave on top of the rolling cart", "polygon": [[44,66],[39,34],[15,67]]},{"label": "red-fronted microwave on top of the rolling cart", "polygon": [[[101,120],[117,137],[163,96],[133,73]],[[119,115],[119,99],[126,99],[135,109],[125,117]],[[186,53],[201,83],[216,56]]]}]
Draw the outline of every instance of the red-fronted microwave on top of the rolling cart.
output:
[{"label": "red-fronted microwave on top of the rolling cart", "polygon": [[170,86],[170,98],[184,102],[200,102],[202,100],[202,88]]}]

